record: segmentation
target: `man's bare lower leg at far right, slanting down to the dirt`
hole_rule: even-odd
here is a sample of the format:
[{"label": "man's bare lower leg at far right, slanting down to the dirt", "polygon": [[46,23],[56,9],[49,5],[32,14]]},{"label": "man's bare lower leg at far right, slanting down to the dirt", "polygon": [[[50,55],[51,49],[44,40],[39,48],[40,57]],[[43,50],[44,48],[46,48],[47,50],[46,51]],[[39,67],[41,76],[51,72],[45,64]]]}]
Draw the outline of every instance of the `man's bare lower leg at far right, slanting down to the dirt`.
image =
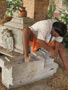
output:
[{"label": "man's bare lower leg at far right, slanting down to the dirt", "polygon": [[59,54],[60,54],[61,60],[64,64],[65,70],[68,71],[68,60],[66,58],[64,46],[62,44],[60,44],[60,47],[59,47]]}]

